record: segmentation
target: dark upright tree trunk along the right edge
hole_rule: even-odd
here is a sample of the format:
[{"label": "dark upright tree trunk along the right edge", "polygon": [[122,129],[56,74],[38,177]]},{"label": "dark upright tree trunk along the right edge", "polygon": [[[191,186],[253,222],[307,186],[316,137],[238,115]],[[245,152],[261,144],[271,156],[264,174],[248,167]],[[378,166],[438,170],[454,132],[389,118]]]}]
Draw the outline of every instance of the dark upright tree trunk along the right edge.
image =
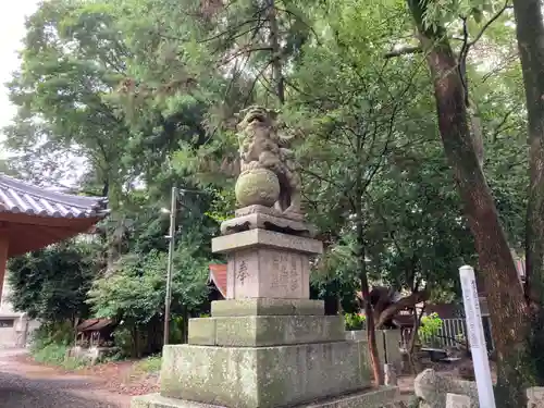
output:
[{"label": "dark upright tree trunk along the right edge", "polygon": [[[514,14],[529,122],[526,298],[533,319],[532,357],[541,359],[544,346],[544,23],[541,1],[515,0]],[[539,361],[535,367],[542,383],[544,364]]]}]

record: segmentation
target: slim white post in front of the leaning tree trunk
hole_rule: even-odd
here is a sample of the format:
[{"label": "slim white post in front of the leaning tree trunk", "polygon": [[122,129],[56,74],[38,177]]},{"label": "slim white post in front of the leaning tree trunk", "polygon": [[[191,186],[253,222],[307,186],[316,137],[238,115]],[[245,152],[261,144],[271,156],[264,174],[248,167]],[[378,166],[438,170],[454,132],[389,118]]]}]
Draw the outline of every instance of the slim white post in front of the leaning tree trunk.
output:
[{"label": "slim white post in front of the leaning tree trunk", "polygon": [[477,379],[478,399],[480,400],[480,407],[495,408],[495,395],[493,394],[493,382],[491,379],[490,360],[487,358],[487,347],[483,334],[474,269],[469,265],[461,267],[459,268],[459,276],[467,320],[467,339],[470,344]]}]

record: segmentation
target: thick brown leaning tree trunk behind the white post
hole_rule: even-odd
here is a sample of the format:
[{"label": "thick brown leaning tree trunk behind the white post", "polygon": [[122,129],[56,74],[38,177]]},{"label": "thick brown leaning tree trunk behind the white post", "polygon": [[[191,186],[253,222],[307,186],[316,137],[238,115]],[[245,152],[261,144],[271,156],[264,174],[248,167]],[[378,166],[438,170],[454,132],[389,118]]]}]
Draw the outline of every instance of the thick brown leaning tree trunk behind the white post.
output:
[{"label": "thick brown leaning tree trunk behind the white post", "polygon": [[514,259],[498,220],[497,209],[479,165],[468,123],[468,112],[457,61],[443,28],[423,24],[428,2],[408,0],[420,41],[433,75],[438,129],[446,157],[454,169],[490,305],[498,356],[497,403],[503,407],[526,405],[523,368],[528,331],[527,304]]}]

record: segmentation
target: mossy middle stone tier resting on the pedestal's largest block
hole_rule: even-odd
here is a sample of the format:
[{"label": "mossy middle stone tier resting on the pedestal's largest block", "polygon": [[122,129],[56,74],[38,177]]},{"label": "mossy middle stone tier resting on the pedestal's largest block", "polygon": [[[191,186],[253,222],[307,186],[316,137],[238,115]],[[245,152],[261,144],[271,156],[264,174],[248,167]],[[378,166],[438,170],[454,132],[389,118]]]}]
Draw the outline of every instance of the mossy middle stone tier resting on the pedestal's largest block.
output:
[{"label": "mossy middle stone tier resting on the pedestal's largest block", "polygon": [[264,347],[342,342],[341,316],[243,316],[189,320],[189,344]]}]

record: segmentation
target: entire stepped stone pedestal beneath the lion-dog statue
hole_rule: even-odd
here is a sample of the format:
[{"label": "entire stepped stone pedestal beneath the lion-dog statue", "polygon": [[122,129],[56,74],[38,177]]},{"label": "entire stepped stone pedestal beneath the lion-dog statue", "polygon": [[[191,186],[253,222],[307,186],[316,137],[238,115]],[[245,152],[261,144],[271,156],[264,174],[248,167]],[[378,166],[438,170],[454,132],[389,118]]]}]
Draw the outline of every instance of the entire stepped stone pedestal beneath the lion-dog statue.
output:
[{"label": "entire stepped stone pedestal beneath the lion-dog statue", "polygon": [[343,318],[309,299],[319,240],[249,227],[212,249],[227,257],[227,299],[189,321],[187,345],[164,347],[160,394],[133,408],[395,406],[396,387],[371,388],[367,342],[346,341]]}]

